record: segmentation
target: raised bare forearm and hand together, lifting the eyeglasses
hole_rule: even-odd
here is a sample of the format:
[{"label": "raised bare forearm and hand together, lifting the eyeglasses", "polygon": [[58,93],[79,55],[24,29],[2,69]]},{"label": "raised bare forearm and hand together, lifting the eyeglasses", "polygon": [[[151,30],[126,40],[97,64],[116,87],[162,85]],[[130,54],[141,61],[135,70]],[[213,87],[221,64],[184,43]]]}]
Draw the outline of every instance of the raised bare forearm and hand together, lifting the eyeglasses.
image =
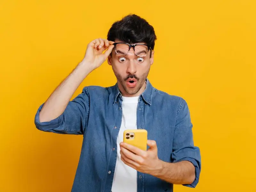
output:
[{"label": "raised bare forearm and hand together, lifting the eyeglasses", "polygon": [[[84,59],[54,90],[39,113],[40,122],[51,121],[66,109],[72,95],[84,78],[108,58],[114,48],[113,41],[95,39],[87,45]],[[107,49],[107,50],[106,50]],[[106,50],[104,53],[102,53]]]}]

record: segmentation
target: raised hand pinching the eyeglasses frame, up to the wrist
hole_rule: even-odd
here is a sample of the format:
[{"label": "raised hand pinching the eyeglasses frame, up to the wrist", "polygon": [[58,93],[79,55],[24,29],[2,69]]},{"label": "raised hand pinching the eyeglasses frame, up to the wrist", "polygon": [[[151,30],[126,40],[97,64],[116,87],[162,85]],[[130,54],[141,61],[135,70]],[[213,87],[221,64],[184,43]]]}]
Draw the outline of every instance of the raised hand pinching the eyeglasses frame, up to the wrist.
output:
[{"label": "raised hand pinching the eyeglasses frame, up to the wrist", "polygon": [[[107,39],[94,39],[87,45],[83,61],[92,65],[92,70],[100,67],[112,52],[112,49],[114,48],[113,43],[115,42],[108,41]],[[102,53],[104,50],[106,51]]]}]

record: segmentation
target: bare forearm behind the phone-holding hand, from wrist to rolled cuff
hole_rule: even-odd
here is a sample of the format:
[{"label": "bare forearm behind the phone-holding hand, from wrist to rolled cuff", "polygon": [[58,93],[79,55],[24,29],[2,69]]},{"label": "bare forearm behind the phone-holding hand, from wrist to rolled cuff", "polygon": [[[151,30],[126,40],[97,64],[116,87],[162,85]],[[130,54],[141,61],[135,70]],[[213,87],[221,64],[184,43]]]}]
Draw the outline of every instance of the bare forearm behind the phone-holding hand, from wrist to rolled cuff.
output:
[{"label": "bare forearm behind the phone-holding hand, from wrist to rolled cuff", "polygon": [[195,180],[195,166],[189,161],[167,163],[160,160],[154,176],[173,184],[191,184]]}]

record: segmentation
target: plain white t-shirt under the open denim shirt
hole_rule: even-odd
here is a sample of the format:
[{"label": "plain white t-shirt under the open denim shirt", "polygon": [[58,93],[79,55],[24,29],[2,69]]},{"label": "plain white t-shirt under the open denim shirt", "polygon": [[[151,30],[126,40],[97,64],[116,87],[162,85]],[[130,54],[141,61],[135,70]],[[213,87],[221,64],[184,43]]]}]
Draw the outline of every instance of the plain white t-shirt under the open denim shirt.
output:
[{"label": "plain white t-shirt under the open denim shirt", "polygon": [[112,184],[112,192],[137,192],[137,171],[124,164],[120,155],[120,142],[124,138],[124,130],[137,129],[138,97],[123,97],[122,123],[117,136],[117,159]]}]

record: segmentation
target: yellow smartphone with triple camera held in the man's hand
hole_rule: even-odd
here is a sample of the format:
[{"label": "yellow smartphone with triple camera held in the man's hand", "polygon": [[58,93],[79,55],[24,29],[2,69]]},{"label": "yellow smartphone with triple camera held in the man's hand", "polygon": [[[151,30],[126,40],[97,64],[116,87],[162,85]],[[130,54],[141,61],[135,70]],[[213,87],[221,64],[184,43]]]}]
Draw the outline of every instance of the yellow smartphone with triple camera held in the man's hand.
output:
[{"label": "yellow smartphone with triple camera held in the man's hand", "polygon": [[145,129],[127,129],[124,131],[124,143],[147,151],[148,132]]}]

